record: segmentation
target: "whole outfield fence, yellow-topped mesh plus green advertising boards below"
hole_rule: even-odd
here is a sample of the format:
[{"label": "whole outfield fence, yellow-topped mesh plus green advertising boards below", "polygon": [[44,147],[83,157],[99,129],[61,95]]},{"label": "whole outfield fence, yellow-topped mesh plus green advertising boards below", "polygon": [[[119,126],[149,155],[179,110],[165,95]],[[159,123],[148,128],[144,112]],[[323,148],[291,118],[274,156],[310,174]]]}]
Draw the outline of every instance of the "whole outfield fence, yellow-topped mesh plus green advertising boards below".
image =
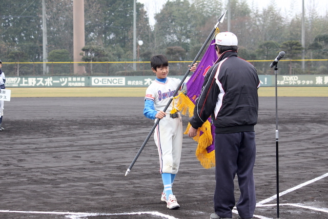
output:
[{"label": "whole outfield fence, yellow-topped mesh plus green advertising boards below", "polygon": [[[272,61],[251,60],[261,86],[275,86]],[[170,62],[170,76],[182,79],[191,61]],[[83,65],[84,72],[74,74],[74,64]],[[148,87],[155,74],[149,62],[43,62],[3,63],[6,87]],[[80,68],[79,68],[80,69]],[[328,59],[281,60],[278,63],[278,86],[328,86]],[[191,74],[186,78],[188,81]]]}]

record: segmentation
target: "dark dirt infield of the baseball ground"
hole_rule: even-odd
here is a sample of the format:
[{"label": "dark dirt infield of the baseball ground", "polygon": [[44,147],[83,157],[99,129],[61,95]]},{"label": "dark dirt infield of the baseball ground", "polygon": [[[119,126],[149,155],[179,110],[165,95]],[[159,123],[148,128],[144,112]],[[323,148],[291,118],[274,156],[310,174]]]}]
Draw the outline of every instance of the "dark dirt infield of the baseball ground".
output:
[{"label": "dark dirt infield of the baseball ground", "polygon": [[[275,97],[260,97],[259,103],[257,202],[275,195],[277,185]],[[279,191],[287,190],[280,197],[280,218],[328,218],[327,103],[328,97],[278,98]],[[209,218],[214,168],[200,166],[196,143],[188,136],[173,186],[180,209],[168,210],[160,201],[162,183],[152,137],[124,176],[153,126],[142,114],[143,104],[142,97],[5,102],[0,218]],[[183,121],[186,127],[188,118]],[[276,199],[262,204],[255,218],[276,218]]]}]

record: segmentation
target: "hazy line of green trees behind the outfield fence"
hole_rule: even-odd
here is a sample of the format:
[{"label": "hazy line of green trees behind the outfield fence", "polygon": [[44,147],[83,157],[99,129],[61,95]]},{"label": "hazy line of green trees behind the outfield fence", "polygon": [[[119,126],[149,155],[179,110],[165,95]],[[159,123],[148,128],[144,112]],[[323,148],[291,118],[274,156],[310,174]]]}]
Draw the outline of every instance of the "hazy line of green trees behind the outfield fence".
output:
[{"label": "hazy line of green trees behind the outfield fence", "polygon": [[[139,61],[165,54],[170,61],[193,60],[228,2],[168,1],[150,26],[143,4],[137,3]],[[282,13],[274,1],[266,8],[230,1],[231,32],[238,36],[238,55],[247,60],[276,57],[328,58],[328,12],[305,8],[305,47],[301,45],[301,14]],[[46,0],[48,61],[73,61],[73,2]],[[3,62],[42,62],[42,0],[5,1],[0,7],[0,59]],[[219,26],[228,30],[227,16]],[[133,61],[133,0],[85,1],[86,62]],[[326,68],[326,66],[320,68]]]}]

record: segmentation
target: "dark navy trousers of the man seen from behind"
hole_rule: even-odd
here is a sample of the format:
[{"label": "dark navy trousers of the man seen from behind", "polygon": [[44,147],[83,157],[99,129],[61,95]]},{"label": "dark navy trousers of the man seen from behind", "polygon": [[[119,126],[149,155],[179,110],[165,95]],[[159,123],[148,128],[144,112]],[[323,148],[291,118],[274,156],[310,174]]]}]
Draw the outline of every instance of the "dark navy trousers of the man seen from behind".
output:
[{"label": "dark navy trousers of the man seen from behind", "polygon": [[238,213],[241,218],[253,217],[256,204],[253,176],[255,156],[255,132],[215,134],[214,210],[220,217],[232,217],[236,174],[241,193],[236,205]]}]

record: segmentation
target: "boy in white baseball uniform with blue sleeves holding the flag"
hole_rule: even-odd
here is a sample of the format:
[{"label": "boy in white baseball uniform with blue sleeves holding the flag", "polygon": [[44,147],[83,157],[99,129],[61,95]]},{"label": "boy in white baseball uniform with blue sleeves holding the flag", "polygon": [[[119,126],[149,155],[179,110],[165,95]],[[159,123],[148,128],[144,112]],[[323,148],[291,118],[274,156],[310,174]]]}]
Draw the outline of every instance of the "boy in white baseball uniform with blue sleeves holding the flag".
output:
[{"label": "boy in white baseball uniform with blue sleeves holding the flag", "polygon": [[[164,55],[155,55],[150,60],[156,79],[146,90],[144,115],[152,120],[160,119],[154,131],[154,140],[159,155],[159,172],[164,186],[161,193],[161,201],[166,202],[167,208],[177,209],[180,207],[175,195],[173,195],[172,185],[178,173],[181,150],[182,150],[182,119],[180,112],[174,112],[173,101],[166,112],[164,108],[170,101],[181,80],[168,77],[169,61]],[[196,70],[196,63],[190,71]],[[190,67],[190,66],[189,66]],[[171,114],[172,113],[172,114]],[[156,120],[155,120],[156,122]]]}]

